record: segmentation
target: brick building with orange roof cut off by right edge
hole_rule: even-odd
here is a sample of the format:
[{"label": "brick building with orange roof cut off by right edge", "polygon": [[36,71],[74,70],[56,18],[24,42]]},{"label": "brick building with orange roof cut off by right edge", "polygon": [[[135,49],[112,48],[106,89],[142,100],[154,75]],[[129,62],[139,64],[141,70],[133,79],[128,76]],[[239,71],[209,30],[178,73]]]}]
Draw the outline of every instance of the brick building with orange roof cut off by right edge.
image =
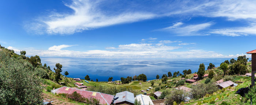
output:
[{"label": "brick building with orange roof cut off by right edge", "polygon": [[249,52],[246,52],[246,54],[252,54],[252,86],[254,86],[254,82],[255,82],[255,73],[256,73],[256,50],[252,50]]}]

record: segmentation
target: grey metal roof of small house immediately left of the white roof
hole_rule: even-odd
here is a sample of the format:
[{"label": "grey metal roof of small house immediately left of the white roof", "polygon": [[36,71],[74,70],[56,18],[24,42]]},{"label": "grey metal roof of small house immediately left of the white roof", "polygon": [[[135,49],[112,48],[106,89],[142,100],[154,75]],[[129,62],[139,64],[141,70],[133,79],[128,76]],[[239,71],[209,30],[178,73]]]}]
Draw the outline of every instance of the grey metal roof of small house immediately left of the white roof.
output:
[{"label": "grey metal roof of small house immediately left of the white roof", "polygon": [[114,100],[113,104],[116,104],[116,105],[123,105],[123,104],[133,105],[135,100],[134,94],[128,91],[116,93],[115,99],[116,100]]}]

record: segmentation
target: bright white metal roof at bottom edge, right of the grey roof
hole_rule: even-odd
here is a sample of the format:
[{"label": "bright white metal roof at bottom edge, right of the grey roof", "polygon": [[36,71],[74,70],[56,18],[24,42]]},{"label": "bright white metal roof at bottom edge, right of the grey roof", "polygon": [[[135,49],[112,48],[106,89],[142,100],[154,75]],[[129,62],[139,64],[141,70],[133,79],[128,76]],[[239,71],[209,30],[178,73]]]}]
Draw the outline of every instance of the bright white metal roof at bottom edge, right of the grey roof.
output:
[{"label": "bright white metal roof at bottom edge, right of the grey roof", "polygon": [[135,96],[135,98],[138,101],[140,101],[141,105],[154,105],[152,100],[150,99],[150,97],[147,95],[139,94],[139,95]]}]

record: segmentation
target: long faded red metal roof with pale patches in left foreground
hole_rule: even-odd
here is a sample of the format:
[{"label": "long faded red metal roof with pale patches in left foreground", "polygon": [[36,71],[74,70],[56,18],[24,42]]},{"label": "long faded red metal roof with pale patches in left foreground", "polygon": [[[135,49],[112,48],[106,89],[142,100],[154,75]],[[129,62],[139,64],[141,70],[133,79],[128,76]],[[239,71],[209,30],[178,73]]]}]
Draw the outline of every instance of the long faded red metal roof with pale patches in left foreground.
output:
[{"label": "long faded red metal roof with pale patches in left foreground", "polygon": [[81,89],[74,89],[74,88],[69,88],[66,86],[63,86],[61,88],[58,89],[54,89],[52,90],[52,93],[67,93],[67,94],[72,94],[74,92],[77,92],[79,94],[81,94],[84,98],[95,98],[99,100],[99,104],[101,105],[110,105],[114,96],[110,95],[110,94],[105,94],[105,93],[100,93],[100,92],[91,92],[91,91],[87,91],[87,90],[81,90]]}]

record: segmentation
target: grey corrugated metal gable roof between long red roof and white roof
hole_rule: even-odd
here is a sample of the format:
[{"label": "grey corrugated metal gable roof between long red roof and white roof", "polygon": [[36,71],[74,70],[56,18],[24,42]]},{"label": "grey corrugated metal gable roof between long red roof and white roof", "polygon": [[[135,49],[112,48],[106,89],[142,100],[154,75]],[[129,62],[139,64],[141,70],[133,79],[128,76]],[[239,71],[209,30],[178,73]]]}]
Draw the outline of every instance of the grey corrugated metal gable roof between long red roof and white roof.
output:
[{"label": "grey corrugated metal gable roof between long red roof and white roof", "polygon": [[116,97],[119,97],[119,98],[117,98],[117,100],[114,100],[114,104],[124,102],[124,101],[134,104],[134,94],[131,92],[124,91],[124,92],[116,93],[115,98]]}]

